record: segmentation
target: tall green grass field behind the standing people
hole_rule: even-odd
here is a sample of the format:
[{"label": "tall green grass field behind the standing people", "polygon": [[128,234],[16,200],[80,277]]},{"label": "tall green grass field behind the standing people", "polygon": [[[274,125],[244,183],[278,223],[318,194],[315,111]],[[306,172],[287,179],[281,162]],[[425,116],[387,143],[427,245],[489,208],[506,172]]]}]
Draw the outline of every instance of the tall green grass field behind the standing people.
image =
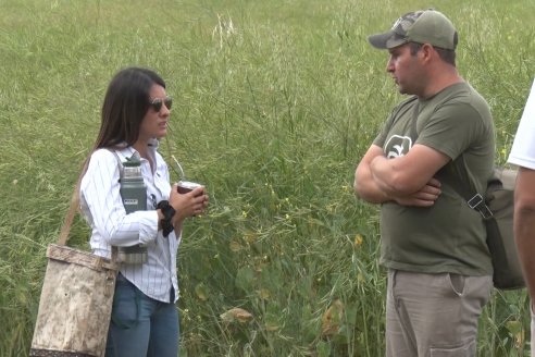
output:
[{"label": "tall green grass field behind the standing people", "polygon": [[[459,29],[503,163],[535,72],[533,0],[0,0],[0,356],[29,350],[46,247],[128,65],[166,79],[161,152],[211,197],[181,247],[181,356],[383,356],[377,207],[352,181],[401,97],[366,36],[430,7]],[[87,248],[86,223],[72,231]],[[525,292],[495,292],[480,356],[527,356],[528,328]]]}]

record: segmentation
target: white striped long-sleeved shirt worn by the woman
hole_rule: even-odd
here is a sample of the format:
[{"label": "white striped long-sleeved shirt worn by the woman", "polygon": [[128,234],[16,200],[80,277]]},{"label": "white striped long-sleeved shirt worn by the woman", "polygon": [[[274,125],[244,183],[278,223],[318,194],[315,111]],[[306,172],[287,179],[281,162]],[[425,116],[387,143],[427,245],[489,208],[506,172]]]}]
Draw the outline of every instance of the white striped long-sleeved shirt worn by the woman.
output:
[{"label": "white striped long-sleeved shirt worn by the woman", "polygon": [[[171,288],[178,292],[176,255],[181,235],[171,232],[167,237],[158,231],[157,202],[169,199],[171,185],[167,165],[157,151],[158,141],[149,147],[154,163],[151,170],[141,158],[141,172],[147,186],[147,210],[126,214],[120,193],[119,163],[108,149],[91,155],[87,172],[80,183],[80,208],[91,227],[90,245],[96,255],[111,257],[111,246],[146,244],[148,260],[144,264],[122,264],[121,273],[147,296],[170,301]],[[133,147],[116,150],[122,161],[139,153]]]}]

